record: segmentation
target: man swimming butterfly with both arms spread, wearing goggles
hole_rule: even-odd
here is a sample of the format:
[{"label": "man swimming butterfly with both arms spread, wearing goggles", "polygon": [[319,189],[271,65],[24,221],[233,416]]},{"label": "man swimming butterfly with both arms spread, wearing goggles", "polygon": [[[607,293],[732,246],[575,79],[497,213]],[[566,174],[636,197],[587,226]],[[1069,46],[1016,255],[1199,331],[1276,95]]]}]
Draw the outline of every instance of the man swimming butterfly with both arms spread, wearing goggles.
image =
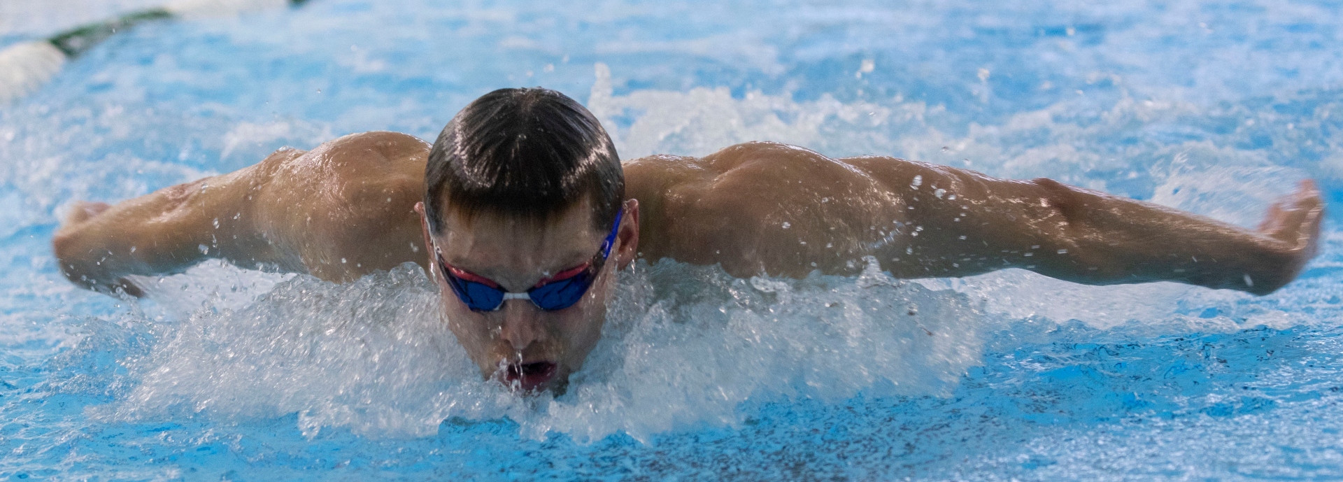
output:
[{"label": "man swimming butterfly with both arms spread, wearing goggles", "polygon": [[1268,294],[1315,255],[1322,216],[1309,181],[1248,231],[1048,179],[772,142],[622,165],[573,99],[504,89],[434,145],[352,134],[115,205],[79,203],[52,244],[73,282],[130,294],[128,275],[207,258],[332,282],[415,262],[481,373],[537,391],[583,365],[615,273],[637,258],[804,277],[857,273],[870,256],[904,278],[1021,267]]}]

